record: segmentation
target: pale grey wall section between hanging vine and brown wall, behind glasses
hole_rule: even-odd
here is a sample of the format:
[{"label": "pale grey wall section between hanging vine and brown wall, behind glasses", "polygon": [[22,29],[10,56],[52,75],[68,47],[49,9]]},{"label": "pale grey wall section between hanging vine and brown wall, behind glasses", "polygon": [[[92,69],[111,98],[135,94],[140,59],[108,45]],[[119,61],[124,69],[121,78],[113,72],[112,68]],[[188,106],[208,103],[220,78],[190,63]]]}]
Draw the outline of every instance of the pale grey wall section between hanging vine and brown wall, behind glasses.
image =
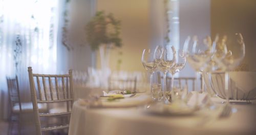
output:
[{"label": "pale grey wall section between hanging vine and brown wall, behind glasses", "polygon": [[[180,0],[180,46],[187,36],[204,37],[211,34],[210,0]],[[186,63],[180,76],[196,77],[195,71]]]}]

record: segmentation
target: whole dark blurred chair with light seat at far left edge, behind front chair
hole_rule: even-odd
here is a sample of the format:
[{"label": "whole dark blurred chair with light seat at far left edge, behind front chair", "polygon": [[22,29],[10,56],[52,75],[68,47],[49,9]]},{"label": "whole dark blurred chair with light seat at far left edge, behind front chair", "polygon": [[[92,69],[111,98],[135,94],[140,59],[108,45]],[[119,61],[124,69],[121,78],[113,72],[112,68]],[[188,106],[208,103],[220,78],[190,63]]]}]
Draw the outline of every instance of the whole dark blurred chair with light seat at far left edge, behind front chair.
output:
[{"label": "whole dark blurred chair with light seat at far left edge, behind front chair", "polygon": [[[9,123],[9,129],[12,131],[13,122],[14,120],[18,121],[18,134],[21,133],[21,116],[22,113],[29,113],[33,112],[33,105],[32,102],[21,102],[20,101],[20,95],[19,95],[19,85],[18,85],[18,77],[15,76],[15,78],[6,77],[7,86],[8,86],[8,95],[9,95],[9,101],[11,108],[10,113],[10,123]],[[46,111],[47,108],[45,105],[39,105],[39,110]],[[15,118],[16,117],[16,118]],[[8,133],[9,134],[9,133]]]}]

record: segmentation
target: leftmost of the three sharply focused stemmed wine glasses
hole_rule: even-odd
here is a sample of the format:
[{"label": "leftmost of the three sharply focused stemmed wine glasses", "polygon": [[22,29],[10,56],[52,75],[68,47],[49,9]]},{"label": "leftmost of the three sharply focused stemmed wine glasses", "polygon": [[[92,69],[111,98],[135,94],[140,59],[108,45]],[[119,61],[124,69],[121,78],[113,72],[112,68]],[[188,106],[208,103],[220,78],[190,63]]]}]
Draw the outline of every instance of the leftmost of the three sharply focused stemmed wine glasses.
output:
[{"label": "leftmost of the three sharply focused stemmed wine glasses", "polygon": [[150,89],[152,92],[153,73],[157,70],[157,62],[154,60],[154,50],[144,49],[141,57],[142,64],[145,70],[150,73]]}]

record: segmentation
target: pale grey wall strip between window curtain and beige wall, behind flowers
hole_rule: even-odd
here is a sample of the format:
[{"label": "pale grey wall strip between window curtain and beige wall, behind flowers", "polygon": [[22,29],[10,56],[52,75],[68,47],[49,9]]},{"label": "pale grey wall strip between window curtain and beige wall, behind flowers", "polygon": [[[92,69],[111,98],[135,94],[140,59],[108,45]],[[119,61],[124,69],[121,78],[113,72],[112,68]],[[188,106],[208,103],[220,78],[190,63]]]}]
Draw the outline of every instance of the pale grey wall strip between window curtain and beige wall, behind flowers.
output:
[{"label": "pale grey wall strip between window curtain and beige wall, behind flowers", "polygon": [[[64,4],[64,1],[60,2],[62,2],[62,5]],[[90,18],[95,14],[95,8],[96,1],[94,0],[70,1],[70,29],[73,30],[76,29],[76,27],[77,29],[78,27],[79,29],[84,28]],[[60,9],[59,14],[59,19],[63,20],[63,9]],[[59,24],[59,44],[57,45],[57,73],[67,72],[69,69],[86,71],[89,66],[94,66],[94,62],[92,60],[93,52],[86,43],[79,40],[74,40],[71,42],[73,50],[70,51],[68,51],[67,48],[62,45],[62,26],[63,24]],[[82,32],[83,29],[79,34],[84,34]]]}]

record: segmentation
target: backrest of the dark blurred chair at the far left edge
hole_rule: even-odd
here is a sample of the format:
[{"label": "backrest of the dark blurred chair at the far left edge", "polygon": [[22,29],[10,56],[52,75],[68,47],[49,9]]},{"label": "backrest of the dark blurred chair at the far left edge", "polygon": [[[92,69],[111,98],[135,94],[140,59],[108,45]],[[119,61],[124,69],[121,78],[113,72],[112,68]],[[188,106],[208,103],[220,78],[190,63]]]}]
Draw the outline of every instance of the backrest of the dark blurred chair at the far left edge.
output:
[{"label": "backrest of the dark blurred chair at the far left edge", "polygon": [[18,103],[19,112],[21,113],[22,105],[20,103],[20,97],[19,97],[18,77],[17,76],[15,76],[15,78],[6,77],[6,81],[8,86],[8,95],[9,95],[11,107],[13,107],[16,103]]}]

